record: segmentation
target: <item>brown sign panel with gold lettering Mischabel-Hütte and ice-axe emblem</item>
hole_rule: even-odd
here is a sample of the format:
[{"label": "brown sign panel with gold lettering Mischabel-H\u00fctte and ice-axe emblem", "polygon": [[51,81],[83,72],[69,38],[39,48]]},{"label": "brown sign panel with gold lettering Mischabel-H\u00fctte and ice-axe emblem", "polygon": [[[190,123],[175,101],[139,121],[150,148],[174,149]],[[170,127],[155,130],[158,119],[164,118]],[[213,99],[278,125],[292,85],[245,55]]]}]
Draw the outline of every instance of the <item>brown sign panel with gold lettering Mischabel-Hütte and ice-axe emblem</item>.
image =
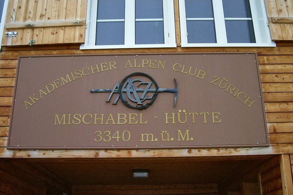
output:
[{"label": "brown sign panel with gold lettering Mischabel-H\u00fctte and ice-axe emblem", "polygon": [[268,146],[256,54],[24,56],[8,149]]}]

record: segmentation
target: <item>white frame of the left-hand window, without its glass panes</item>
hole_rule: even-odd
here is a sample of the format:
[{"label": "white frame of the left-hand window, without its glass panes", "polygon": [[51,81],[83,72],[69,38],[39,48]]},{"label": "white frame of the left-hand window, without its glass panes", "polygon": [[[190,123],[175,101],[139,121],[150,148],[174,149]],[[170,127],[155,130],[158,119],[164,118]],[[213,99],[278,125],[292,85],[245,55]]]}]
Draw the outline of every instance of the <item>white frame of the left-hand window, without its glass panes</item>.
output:
[{"label": "white frame of the left-hand window, without its glass panes", "polygon": [[[159,48],[176,47],[174,3],[163,0],[164,44],[135,44],[135,1],[125,0],[124,45],[95,45],[97,0],[87,2],[87,29],[85,44],[80,49]],[[93,22],[92,22],[93,21]],[[137,21],[141,21],[138,19]]]}]

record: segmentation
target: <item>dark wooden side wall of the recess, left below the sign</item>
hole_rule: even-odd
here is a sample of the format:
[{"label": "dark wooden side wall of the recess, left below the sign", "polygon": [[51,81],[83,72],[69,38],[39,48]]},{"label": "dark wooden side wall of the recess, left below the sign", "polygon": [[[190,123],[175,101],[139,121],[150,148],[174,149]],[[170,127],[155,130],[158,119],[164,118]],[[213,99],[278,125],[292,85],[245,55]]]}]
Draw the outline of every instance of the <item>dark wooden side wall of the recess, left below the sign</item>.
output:
[{"label": "dark wooden side wall of the recess, left below the sign", "polygon": [[38,163],[0,159],[0,194],[71,194],[71,186]]}]

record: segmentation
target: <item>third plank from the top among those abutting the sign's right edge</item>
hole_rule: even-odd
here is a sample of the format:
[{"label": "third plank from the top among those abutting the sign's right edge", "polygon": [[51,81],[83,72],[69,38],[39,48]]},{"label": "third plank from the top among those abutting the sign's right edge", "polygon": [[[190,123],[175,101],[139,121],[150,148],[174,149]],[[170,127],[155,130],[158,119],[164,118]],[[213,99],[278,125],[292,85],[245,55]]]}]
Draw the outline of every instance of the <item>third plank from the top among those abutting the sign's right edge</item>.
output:
[{"label": "third plank from the top among those abutting the sign's right edge", "polygon": [[261,73],[262,83],[293,82],[293,73]]}]

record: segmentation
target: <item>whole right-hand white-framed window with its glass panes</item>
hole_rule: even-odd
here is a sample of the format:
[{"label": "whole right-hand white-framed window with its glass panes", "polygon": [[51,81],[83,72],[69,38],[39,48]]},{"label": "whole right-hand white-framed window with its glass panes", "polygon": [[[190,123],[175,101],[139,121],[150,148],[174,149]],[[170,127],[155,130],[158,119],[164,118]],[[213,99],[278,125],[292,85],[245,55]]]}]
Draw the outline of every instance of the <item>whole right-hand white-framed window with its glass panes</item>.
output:
[{"label": "whole right-hand white-framed window with its glass panes", "polygon": [[181,46],[275,46],[262,0],[179,0]]}]

